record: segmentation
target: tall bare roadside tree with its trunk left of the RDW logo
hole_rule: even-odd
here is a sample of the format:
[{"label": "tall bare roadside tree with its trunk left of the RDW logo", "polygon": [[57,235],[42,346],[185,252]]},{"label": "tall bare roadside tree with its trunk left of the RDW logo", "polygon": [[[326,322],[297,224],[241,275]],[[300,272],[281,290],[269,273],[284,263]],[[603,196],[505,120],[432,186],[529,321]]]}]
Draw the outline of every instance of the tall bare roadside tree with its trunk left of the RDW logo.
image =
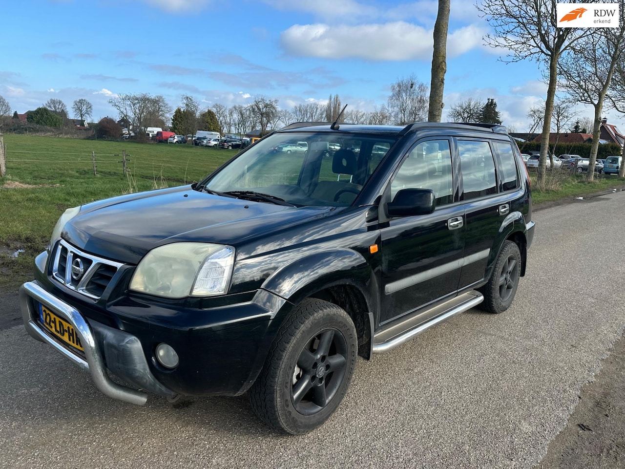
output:
[{"label": "tall bare roadside tree with its trunk left of the RDW logo", "polygon": [[547,67],[547,98],[542,123],[537,186],[546,173],[549,129],[556,97],[557,63],[564,51],[594,31],[593,28],[557,28],[556,0],[481,0],[477,9],[494,30],[484,37],[489,46],[509,49],[504,61],[535,59]]}]

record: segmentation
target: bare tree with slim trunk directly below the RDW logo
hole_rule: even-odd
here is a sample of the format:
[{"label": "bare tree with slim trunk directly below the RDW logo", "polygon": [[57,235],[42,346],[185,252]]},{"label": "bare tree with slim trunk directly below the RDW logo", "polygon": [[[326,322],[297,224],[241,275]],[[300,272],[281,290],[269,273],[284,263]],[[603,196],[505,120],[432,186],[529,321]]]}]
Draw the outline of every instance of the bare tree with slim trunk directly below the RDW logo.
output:
[{"label": "bare tree with slim trunk directly below the RDW logo", "polygon": [[[580,103],[592,104],[594,125],[588,168],[594,168],[599,149],[599,128],[607,90],[617,63],[623,56],[625,28],[599,29],[576,44],[576,48],[564,56],[559,66],[562,88]],[[594,171],[587,171],[588,181],[594,179]]]}]

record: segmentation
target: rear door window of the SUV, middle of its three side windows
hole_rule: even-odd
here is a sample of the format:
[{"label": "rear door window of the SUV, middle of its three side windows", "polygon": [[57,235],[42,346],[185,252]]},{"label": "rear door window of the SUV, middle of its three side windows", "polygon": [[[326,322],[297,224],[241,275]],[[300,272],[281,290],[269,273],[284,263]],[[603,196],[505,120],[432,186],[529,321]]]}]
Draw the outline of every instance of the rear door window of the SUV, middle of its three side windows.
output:
[{"label": "rear door window of the SUV, middle of its three side windows", "polygon": [[462,200],[497,193],[495,162],[486,141],[459,140]]}]

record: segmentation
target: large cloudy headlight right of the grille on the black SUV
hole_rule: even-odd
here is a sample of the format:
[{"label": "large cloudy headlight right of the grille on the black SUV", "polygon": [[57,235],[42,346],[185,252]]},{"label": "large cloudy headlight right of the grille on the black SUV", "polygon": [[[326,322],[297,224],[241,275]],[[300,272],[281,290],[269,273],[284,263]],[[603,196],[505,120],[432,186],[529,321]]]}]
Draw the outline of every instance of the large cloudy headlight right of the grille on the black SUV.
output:
[{"label": "large cloudy headlight right of the grille on the black SUV", "polygon": [[130,290],[165,298],[226,293],[234,248],[212,243],[172,243],[149,251],[139,262]]}]

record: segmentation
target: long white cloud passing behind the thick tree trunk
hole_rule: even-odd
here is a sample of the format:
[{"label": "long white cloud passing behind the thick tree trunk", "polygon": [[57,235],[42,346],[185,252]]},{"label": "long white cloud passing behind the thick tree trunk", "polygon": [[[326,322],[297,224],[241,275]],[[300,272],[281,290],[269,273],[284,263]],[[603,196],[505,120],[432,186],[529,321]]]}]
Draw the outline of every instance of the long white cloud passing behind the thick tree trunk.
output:
[{"label": "long white cloud passing behind the thick tree trunk", "polygon": [[[456,29],[447,39],[447,56],[479,46],[484,33],[476,25]],[[433,48],[431,30],[404,21],[359,26],[296,24],[282,32],[281,44],[294,56],[372,61],[431,60]]]}]

